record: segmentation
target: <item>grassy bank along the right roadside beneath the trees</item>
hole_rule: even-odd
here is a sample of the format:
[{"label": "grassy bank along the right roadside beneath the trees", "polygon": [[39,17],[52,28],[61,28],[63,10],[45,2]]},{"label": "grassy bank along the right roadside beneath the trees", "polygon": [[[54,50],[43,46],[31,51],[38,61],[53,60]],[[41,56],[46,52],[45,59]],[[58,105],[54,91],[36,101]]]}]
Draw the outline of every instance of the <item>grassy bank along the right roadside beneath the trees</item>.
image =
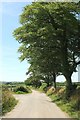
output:
[{"label": "grassy bank along the right roadside beneath the trees", "polygon": [[65,86],[57,86],[55,90],[53,87],[47,88],[47,85],[43,83],[39,91],[45,92],[51,98],[52,102],[56,103],[70,117],[80,120],[80,86],[71,93],[69,100],[65,98]]}]

